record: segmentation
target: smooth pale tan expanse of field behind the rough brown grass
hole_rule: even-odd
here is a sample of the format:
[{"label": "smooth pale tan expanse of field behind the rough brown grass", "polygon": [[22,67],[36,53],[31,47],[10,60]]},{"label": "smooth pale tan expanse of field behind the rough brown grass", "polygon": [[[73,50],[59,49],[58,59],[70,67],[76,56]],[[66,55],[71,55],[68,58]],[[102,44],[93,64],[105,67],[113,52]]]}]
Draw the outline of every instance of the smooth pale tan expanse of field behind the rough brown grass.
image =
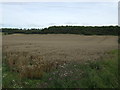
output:
[{"label": "smooth pale tan expanse of field behind the rough brown grass", "polygon": [[3,52],[28,52],[45,60],[96,60],[104,52],[118,48],[117,36],[73,34],[4,35]]}]

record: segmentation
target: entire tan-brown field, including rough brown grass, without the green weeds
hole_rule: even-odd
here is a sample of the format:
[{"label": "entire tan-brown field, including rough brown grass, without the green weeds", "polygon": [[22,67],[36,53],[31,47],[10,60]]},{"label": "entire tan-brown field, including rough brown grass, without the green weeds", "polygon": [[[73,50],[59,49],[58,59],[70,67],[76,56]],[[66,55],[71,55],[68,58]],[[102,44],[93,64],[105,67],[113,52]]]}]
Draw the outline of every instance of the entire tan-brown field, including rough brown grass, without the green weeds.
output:
[{"label": "entire tan-brown field, including rough brown grass, without the green weeds", "polygon": [[117,36],[13,34],[4,35],[2,42],[3,62],[21,78],[41,77],[44,72],[71,61],[97,60],[106,51],[118,48]]}]

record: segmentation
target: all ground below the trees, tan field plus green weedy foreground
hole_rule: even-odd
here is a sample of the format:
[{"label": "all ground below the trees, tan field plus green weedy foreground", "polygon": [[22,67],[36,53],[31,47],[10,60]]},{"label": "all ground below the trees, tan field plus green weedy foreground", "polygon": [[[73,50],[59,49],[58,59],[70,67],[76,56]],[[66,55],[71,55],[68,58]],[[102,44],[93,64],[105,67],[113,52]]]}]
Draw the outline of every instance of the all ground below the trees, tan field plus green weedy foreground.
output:
[{"label": "all ground below the trees, tan field plus green weedy foreground", "polygon": [[13,34],[2,44],[3,87],[117,87],[117,36]]}]

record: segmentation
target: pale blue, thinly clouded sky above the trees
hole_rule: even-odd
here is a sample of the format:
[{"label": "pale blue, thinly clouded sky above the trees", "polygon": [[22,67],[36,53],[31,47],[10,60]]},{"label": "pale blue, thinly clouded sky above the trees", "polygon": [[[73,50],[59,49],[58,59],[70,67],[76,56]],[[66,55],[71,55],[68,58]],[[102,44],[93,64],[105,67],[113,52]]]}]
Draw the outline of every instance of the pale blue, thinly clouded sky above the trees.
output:
[{"label": "pale blue, thinly clouded sky above the trees", "polygon": [[4,2],[0,27],[109,26],[118,24],[117,2]]}]

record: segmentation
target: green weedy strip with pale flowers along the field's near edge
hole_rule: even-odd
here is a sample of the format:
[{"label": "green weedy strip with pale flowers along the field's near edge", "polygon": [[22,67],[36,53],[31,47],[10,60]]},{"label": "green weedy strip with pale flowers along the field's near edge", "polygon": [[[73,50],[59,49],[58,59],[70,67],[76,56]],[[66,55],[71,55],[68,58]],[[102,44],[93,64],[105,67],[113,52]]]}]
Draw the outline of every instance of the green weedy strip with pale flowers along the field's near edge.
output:
[{"label": "green weedy strip with pale flowers along the field's near edge", "polygon": [[[3,87],[12,88],[117,88],[118,50],[95,61],[68,62],[41,79],[20,79],[3,64]],[[34,72],[33,72],[34,73]]]}]

